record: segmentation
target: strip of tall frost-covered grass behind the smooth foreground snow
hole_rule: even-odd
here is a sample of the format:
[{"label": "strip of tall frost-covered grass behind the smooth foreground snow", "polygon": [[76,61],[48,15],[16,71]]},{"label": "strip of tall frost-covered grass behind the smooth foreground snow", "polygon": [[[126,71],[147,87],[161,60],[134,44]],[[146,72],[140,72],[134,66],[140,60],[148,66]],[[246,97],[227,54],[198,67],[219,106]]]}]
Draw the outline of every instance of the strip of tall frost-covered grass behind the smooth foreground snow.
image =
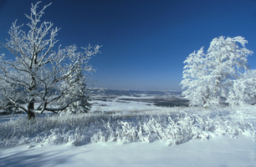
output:
[{"label": "strip of tall frost-covered grass behind the smooth foreground snow", "polygon": [[[141,107],[141,106],[140,106]],[[2,149],[28,144],[164,141],[183,144],[191,139],[208,140],[216,135],[239,134],[256,140],[255,106],[238,108],[152,108],[128,112],[43,114],[33,121],[19,116],[0,124]]]}]

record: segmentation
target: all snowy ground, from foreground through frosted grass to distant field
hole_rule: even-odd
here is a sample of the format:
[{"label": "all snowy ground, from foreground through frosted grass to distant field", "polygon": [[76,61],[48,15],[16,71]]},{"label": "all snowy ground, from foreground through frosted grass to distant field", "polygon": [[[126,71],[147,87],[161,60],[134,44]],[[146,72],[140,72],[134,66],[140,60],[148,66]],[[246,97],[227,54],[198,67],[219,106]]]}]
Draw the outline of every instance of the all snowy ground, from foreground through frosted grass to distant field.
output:
[{"label": "all snowy ground, from foreground through frosted grass to distant field", "polygon": [[90,114],[30,124],[25,114],[1,115],[0,166],[256,166],[255,106],[169,108],[143,100],[156,95],[103,96]]}]

